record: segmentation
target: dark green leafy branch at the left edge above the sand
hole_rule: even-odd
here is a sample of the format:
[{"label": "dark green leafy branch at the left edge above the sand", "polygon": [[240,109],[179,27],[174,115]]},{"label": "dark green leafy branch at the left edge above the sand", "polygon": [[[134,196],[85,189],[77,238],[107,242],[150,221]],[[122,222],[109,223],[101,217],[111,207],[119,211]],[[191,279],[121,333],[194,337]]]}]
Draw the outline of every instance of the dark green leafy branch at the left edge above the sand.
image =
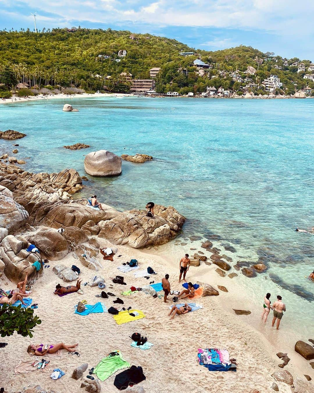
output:
[{"label": "dark green leafy branch at the left edge above the sand", "polygon": [[42,321],[37,315],[34,315],[34,310],[30,308],[22,308],[21,305],[13,307],[12,305],[4,304],[0,309],[0,332],[1,337],[12,336],[14,332],[23,337],[33,337],[33,328],[40,325]]}]

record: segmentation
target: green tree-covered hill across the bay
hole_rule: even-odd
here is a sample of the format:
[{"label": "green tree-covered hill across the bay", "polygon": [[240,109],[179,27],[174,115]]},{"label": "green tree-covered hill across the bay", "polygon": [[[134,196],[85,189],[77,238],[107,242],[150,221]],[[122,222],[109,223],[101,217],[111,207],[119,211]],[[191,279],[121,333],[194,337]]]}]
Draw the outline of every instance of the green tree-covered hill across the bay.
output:
[{"label": "green tree-covered hill across the bay", "polygon": [[[126,57],[119,58],[119,50],[126,50]],[[179,55],[180,51],[195,51],[197,55],[183,57]],[[99,55],[110,58],[99,58]],[[206,75],[199,75],[192,67],[197,57],[213,64],[213,69]],[[79,28],[73,32],[53,29],[38,33],[0,31],[2,79],[5,71],[12,70],[18,82],[37,88],[48,85],[50,88],[75,86],[98,90],[106,85],[112,91],[128,91],[128,83],[120,76],[121,72],[130,72],[133,78],[144,79],[149,78],[150,68],[161,67],[156,78],[159,92],[202,92],[206,86],[240,91],[243,86],[239,86],[229,74],[236,70],[243,73],[248,65],[259,68],[253,76],[257,86],[270,74],[279,75],[284,91],[289,94],[309,84],[303,79],[305,72],[297,73],[297,67],[283,66],[283,59],[279,56],[265,61],[266,57],[261,51],[246,46],[215,52],[193,50],[173,39],[111,29]],[[121,61],[116,62],[117,59]],[[258,65],[258,59],[263,59],[263,63]],[[298,59],[291,59],[289,63],[295,60]],[[310,61],[303,62],[306,66],[310,64]],[[274,68],[276,64],[283,69]],[[179,68],[183,68],[184,73],[179,73]],[[221,71],[226,74],[221,75]],[[243,78],[246,76],[242,75]]]}]

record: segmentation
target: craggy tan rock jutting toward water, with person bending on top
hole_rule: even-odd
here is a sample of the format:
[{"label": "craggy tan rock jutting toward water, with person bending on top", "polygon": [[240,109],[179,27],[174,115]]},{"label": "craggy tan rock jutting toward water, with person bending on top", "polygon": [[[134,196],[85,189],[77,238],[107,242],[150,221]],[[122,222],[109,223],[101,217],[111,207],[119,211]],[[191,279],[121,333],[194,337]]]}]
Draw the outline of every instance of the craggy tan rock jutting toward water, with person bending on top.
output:
[{"label": "craggy tan rock jutting toward water, with person bending on top", "polygon": [[112,244],[128,244],[132,248],[164,244],[181,230],[185,218],[172,206],[154,206],[154,218],[142,210],[130,210],[99,223],[99,237]]}]

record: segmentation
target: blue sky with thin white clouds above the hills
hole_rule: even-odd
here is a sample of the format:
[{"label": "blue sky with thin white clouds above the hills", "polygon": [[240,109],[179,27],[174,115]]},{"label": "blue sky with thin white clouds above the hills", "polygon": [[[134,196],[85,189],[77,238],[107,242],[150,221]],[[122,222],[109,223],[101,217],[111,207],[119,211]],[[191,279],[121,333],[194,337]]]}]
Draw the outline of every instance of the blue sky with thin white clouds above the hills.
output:
[{"label": "blue sky with thin white clouds above the hills", "polygon": [[151,33],[196,49],[250,45],[314,61],[314,0],[0,0],[0,29],[82,26]]}]

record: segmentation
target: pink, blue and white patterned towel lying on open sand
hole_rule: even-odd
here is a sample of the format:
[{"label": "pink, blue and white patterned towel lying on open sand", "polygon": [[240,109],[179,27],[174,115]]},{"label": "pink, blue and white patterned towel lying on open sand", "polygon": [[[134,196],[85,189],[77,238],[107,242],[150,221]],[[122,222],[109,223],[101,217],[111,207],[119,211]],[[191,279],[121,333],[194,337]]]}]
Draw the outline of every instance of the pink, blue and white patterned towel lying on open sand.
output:
[{"label": "pink, blue and white patterned towel lying on open sand", "polygon": [[[229,352],[219,348],[199,348],[197,361],[209,371],[229,371],[231,362]],[[235,369],[233,369],[235,371]]]}]

